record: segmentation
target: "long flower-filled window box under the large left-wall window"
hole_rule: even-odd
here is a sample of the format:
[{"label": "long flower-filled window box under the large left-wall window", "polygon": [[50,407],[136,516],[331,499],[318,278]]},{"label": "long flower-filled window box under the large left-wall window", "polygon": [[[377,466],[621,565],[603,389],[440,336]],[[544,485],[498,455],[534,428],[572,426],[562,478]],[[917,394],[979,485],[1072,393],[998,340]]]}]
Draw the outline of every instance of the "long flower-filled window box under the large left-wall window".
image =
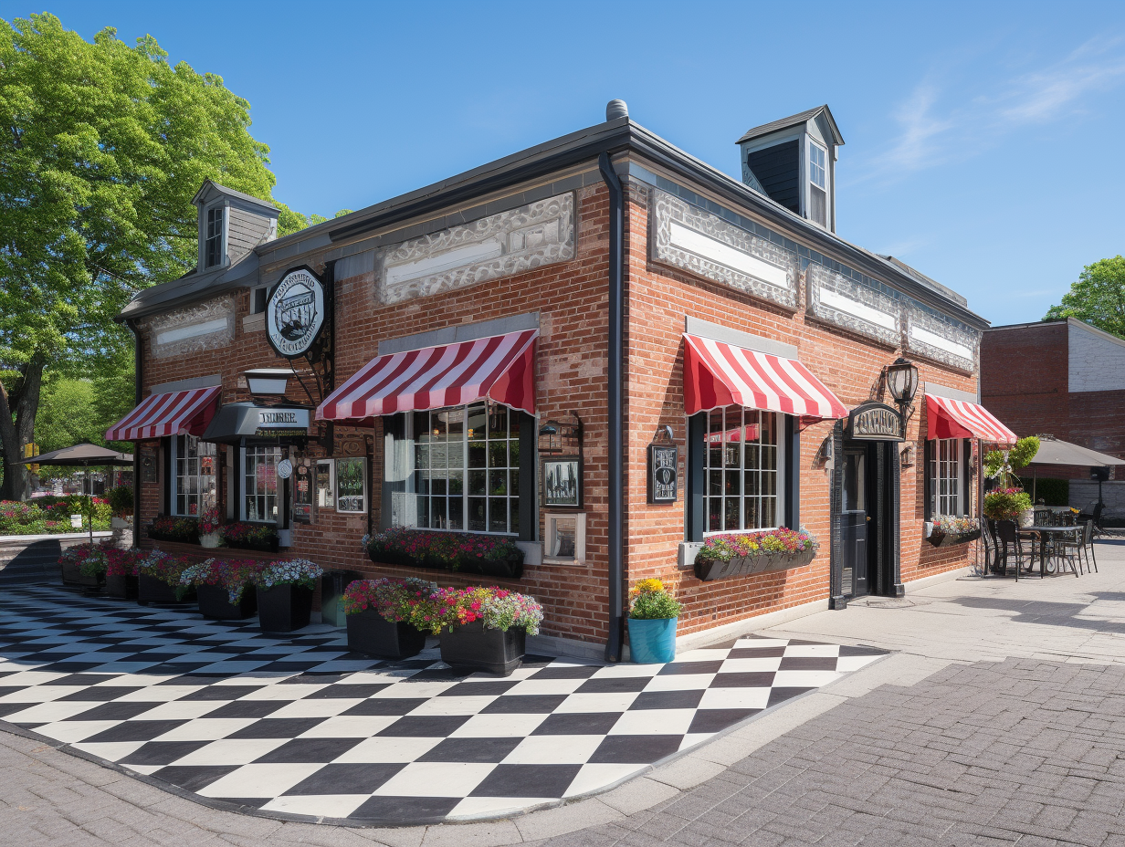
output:
[{"label": "long flower-filled window box under the large left-wall window", "polygon": [[394,528],[364,541],[371,561],[519,579],[523,551],[511,538]]}]

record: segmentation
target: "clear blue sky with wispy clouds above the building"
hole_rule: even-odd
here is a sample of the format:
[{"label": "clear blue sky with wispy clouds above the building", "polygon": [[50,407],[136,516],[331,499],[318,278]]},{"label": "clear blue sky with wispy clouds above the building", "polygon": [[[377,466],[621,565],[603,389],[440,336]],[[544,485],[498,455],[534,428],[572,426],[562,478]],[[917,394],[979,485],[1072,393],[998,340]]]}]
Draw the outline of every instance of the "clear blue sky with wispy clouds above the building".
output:
[{"label": "clear blue sky with wispy clouds above the building", "polygon": [[[43,10],[6,0],[7,19]],[[61,2],[252,105],[274,196],[358,209],[600,123],[738,175],[735,139],[827,102],[838,233],[1036,321],[1125,252],[1125,3]]]}]

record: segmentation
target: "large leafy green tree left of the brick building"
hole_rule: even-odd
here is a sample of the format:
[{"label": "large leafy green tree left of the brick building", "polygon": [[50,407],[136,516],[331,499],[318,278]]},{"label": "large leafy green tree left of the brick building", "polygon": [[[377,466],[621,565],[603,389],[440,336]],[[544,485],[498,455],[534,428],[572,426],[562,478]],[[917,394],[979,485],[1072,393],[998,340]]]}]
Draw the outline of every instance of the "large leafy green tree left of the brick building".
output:
[{"label": "large leafy green tree left of the brick building", "polygon": [[152,36],[129,47],[52,15],[0,20],[0,370],[15,371],[0,381],[0,461],[15,470],[0,498],[26,495],[10,462],[44,373],[120,384],[132,339],[112,317],[195,263],[204,179],[270,199],[269,148],[249,127],[246,100],[169,64]]}]

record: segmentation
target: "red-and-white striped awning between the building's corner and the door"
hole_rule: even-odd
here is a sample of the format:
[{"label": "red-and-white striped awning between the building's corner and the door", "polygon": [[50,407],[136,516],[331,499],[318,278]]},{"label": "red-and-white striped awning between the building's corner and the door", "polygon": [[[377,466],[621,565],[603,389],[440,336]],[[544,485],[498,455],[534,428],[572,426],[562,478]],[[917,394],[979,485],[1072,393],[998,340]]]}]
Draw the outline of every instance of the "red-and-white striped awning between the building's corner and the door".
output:
[{"label": "red-and-white striped awning between the building's corner and the door", "polygon": [[847,417],[831,390],[796,359],[684,334],[684,407],[688,415],[746,406],[799,415],[802,423]]}]

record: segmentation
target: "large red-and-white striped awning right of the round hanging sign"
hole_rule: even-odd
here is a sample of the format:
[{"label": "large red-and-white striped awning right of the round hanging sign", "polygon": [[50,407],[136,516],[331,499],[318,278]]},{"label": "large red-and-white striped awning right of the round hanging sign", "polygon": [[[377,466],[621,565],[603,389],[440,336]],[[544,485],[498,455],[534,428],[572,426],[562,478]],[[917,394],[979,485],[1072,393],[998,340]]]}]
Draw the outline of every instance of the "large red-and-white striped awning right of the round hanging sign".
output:
[{"label": "large red-and-white striped awning right of the round hanging sign", "polygon": [[464,406],[488,397],[536,412],[538,330],[522,330],[372,359],[316,408],[317,421]]}]

